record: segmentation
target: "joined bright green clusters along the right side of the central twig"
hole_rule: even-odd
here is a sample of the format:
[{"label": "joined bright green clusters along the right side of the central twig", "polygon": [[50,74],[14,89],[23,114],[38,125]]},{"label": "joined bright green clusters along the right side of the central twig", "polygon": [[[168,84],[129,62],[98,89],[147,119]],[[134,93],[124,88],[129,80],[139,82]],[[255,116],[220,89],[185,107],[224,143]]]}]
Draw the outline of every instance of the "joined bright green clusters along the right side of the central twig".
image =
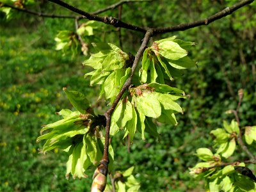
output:
[{"label": "joined bright green clusters along the right side of the central twig", "polygon": [[186,96],[182,90],[168,86],[164,79],[172,80],[172,76],[181,75],[180,70],[194,67],[196,63],[185,50],[194,43],[175,38],[172,36],[156,41],[143,52],[139,79],[134,80],[134,87],[120,100],[112,115],[112,136],[123,129],[124,138],[129,133],[131,141],[136,130],[141,133],[143,140],[145,131],[160,139],[155,119],[161,123],[177,125],[174,113],[183,112],[176,100],[185,99]]}]

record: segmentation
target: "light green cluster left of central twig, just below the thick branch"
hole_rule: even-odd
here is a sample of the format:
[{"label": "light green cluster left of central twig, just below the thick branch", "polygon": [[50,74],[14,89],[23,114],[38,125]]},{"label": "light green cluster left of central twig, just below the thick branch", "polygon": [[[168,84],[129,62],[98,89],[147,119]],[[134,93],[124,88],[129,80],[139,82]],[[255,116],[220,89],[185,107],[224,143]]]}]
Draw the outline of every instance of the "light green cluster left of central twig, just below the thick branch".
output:
[{"label": "light green cluster left of central twig, just below the thick branch", "polygon": [[127,67],[131,58],[116,45],[104,43],[93,43],[92,45],[97,52],[91,54],[83,64],[94,70],[85,74],[84,77],[92,76],[90,85],[99,84],[99,95],[104,94],[106,99],[113,102],[131,74],[131,67]]}]

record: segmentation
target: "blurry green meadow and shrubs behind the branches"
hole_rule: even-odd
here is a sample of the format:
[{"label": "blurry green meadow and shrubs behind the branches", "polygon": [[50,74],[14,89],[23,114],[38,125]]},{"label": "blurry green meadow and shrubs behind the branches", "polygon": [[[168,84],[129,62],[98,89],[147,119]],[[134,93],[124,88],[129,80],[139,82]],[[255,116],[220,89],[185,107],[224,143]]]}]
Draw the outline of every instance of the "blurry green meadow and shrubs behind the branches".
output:
[{"label": "blurry green meadow and shrubs behind the branches", "polygon": [[[72,14],[47,1],[28,8],[38,12]],[[69,0],[87,12],[104,8],[116,1]],[[238,1],[150,1],[123,6],[122,20],[140,26],[164,27],[202,19]],[[137,139],[131,154],[113,138],[115,168],[125,170],[135,165],[134,175],[141,182],[141,191],[204,191],[204,184],[191,178],[189,167],[195,165],[196,148],[212,148],[209,132],[221,127],[233,116],[225,111],[237,105],[237,91],[244,89],[240,109],[241,125],[256,124],[256,3],[232,15],[201,26],[156,36],[153,40],[178,35],[196,42],[189,54],[198,67],[186,70],[173,84],[191,98],[181,102],[184,115],[177,115],[179,125],[161,125],[162,141]],[[40,127],[58,120],[54,113],[71,108],[63,87],[85,93],[99,112],[104,102],[97,101],[98,88],[90,87],[84,74],[91,70],[81,64],[85,56],[63,56],[55,51],[54,36],[60,30],[75,30],[74,20],[47,19],[27,13],[12,12],[6,20],[0,13],[0,191],[89,191],[92,173],[83,180],[66,180],[67,154],[54,150],[38,154],[44,143],[36,143]],[[118,10],[104,15],[118,17]],[[116,29],[99,24],[95,36],[104,42],[119,45]],[[122,29],[125,52],[136,53],[143,34]],[[244,157],[243,151],[237,156]],[[199,184],[198,184],[199,183]]]}]

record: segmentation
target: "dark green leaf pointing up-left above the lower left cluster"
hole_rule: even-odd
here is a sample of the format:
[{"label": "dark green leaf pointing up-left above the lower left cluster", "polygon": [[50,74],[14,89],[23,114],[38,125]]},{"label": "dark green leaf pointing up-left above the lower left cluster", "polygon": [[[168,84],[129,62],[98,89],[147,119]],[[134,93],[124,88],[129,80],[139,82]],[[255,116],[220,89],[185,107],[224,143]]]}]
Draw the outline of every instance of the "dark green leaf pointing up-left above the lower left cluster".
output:
[{"label": "dark green leaf pointing up-left above the lower left cluster", "polygon": [[85,95],[76,91],[68,91],[67,88],[63,88],[72,106],[76,108],[80,113],[86,114],[87,109],[90,108],[90,102],[86,99]]}]

